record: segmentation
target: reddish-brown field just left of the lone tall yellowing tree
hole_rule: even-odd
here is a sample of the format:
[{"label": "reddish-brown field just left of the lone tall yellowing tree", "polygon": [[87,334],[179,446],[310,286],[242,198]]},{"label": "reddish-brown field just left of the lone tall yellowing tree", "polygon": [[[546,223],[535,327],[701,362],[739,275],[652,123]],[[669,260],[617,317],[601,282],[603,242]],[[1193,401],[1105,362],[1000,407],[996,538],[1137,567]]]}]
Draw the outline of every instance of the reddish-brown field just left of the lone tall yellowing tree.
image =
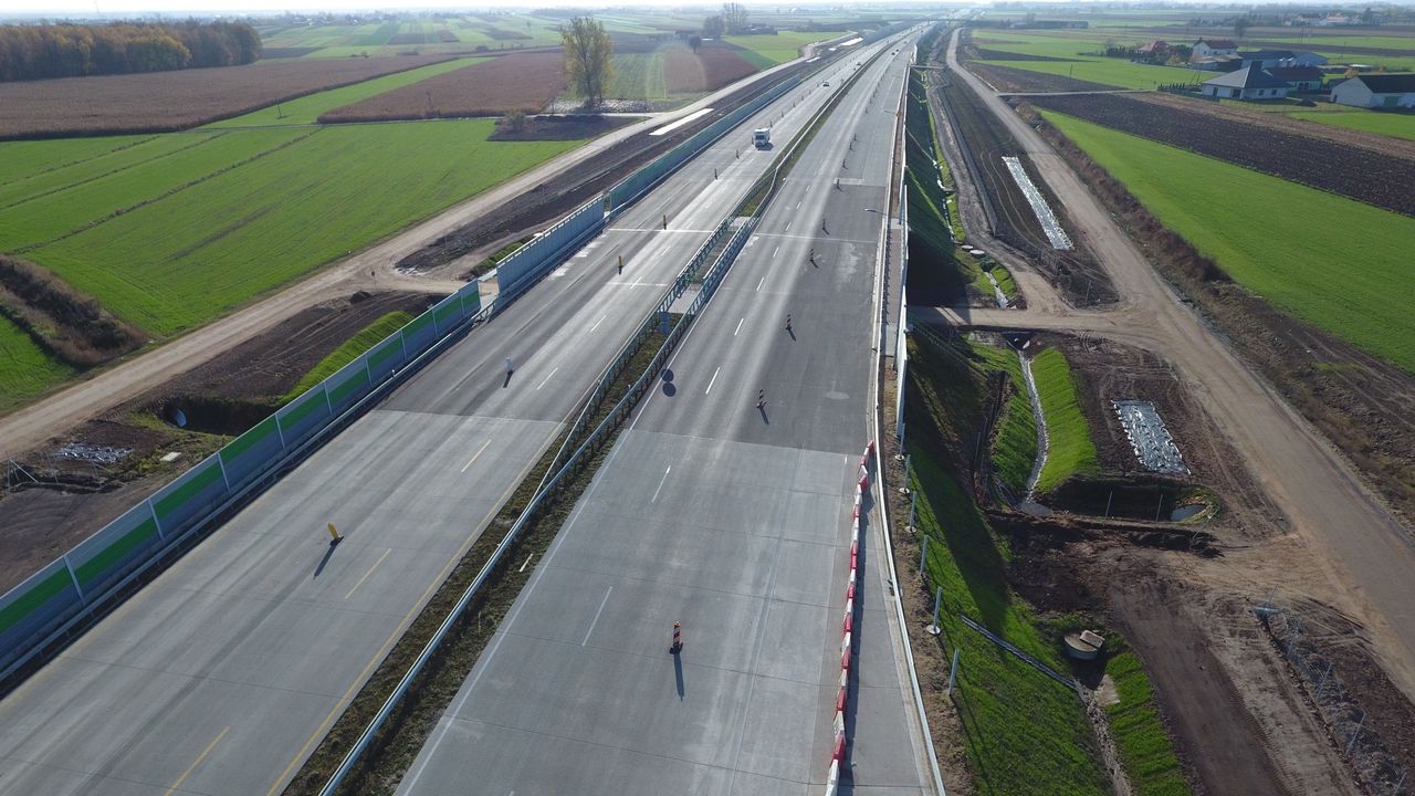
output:
[{"label": "reddish-brown field just left of the lone tall yellowing tree", "polygon": [[499,116],[508,110],[533,113],[565,91],[560,64],[559,52],[501,55],[335,108],[320,116],[320,122]]}]

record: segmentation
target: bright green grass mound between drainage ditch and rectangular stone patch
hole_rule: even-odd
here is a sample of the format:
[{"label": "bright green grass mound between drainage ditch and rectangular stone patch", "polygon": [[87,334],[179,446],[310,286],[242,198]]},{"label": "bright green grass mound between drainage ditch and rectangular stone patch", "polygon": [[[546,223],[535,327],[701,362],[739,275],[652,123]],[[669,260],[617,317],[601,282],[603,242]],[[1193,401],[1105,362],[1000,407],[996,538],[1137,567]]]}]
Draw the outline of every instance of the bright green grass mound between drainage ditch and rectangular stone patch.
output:
[{"label": "bright green grass mound between drainage ditch and rectangular stone patch", "polygon": [[1043,350],[1032,358],[1032,378],[1037,382],[1041,416],[1047,422],[1047,462],[1037,477],[1037,493],[1046,494],[1074,474],[1101,472],[1101,462],[1091,442],[1091,426],[1077,402],[1065,356],[1056,348]]}]

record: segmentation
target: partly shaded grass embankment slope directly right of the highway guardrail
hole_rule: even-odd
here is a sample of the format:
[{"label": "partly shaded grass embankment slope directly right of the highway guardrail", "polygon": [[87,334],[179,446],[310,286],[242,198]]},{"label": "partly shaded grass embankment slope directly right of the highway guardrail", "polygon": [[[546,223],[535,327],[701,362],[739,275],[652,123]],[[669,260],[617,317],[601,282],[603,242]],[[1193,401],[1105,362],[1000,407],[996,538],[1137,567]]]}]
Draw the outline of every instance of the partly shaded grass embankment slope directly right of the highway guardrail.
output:
[{"label": "partly shaded grass embankment slope directly right of the highway guardrail", "polygon": [[[1101,796],[1107,780],[1075,694],[962,625],[966,613],[1029,654],[1065,670],[1057,646],[1007,586],[1010,551],[949,470],[948,445],[972,436],[958,418],[985,392],[966,343],[951,353],[910,341],[908,412],[916,523],[930,538],[927,591],[942,588],[942,653],[961,663],[954,693],[975,792],[1009,796]],[[914,588],[914,586],[910,586]]]}]

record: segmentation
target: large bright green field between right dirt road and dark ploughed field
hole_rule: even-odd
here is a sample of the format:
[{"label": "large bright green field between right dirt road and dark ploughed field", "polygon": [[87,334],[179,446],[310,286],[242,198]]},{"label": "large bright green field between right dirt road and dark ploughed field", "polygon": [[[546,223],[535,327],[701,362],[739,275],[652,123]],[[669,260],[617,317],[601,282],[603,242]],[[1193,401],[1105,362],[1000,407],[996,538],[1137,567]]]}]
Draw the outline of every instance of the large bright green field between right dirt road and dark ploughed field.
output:
[{"label": "large bright green field between right dirt road and dark ploughed field", "polygon": [[1046,112],[1249,290],[1415,371],[1415,218]]}]

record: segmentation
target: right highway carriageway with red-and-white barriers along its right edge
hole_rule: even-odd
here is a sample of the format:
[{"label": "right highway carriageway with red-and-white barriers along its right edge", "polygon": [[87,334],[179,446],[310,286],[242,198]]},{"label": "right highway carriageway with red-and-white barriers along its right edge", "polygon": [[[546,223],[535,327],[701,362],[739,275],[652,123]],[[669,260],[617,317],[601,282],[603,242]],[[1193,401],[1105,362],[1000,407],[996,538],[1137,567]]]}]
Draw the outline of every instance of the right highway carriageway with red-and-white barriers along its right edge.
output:
[{"label": "right highway carriageway with red-and-white barriers along its right edge", "polygon": [[[400,795],[821,792],[873,411],[870,210],[887,207],[906,58],[870,67],[815,136]],[[924,793],[867,531],[846,792]]]}]

